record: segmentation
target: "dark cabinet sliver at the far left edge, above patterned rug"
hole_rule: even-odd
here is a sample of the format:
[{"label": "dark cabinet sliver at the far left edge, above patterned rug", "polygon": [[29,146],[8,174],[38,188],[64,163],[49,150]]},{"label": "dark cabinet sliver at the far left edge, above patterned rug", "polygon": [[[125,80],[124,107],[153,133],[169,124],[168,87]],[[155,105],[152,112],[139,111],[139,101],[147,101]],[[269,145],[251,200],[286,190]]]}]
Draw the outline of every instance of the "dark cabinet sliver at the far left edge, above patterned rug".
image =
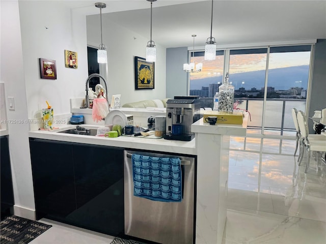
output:
[{"label": "dark cabinet sliver at the far left edge, above patterned rug", "polygon": [[1,219],[13,215],[14,193],[12,186],[11,166],[9,157],[8,136],[2,136],[0,141],[0,164],[1,164]]}]

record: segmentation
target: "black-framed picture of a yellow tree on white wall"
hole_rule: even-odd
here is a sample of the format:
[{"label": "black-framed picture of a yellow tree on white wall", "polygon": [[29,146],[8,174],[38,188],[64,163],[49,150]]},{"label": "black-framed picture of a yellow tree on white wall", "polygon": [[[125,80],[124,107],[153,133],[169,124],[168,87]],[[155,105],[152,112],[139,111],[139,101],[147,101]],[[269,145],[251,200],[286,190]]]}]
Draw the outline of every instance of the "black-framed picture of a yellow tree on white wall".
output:
[{"label": "black-framed picture of a yellow tree on white wall", "polygon": [[136,90],[154,89],[154,63],[134,57],[134,85]]}]

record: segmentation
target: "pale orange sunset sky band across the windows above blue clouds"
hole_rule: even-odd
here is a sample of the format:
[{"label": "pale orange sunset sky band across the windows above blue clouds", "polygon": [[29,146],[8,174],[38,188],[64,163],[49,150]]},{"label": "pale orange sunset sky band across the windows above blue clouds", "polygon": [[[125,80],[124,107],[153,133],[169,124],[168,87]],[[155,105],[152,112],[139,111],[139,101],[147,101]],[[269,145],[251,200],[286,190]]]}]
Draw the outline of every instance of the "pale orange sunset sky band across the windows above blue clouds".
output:
[{"label": "pale orange sunset sky band across the windows above blue clouds", "polygon": [[[265,70],[266,53],[239,54],[230,56],[230,74]],[[213,76],[223,76],[224,56],[216,56],[215,60],[204,60],[204,57],[195,57],[195,64],[203,63],[203,70],[192,73],[191,79],[202,79]],[[281,52],[269,54],[269,69],[285,68],[292,66],[309,65],[310,52]]]}]

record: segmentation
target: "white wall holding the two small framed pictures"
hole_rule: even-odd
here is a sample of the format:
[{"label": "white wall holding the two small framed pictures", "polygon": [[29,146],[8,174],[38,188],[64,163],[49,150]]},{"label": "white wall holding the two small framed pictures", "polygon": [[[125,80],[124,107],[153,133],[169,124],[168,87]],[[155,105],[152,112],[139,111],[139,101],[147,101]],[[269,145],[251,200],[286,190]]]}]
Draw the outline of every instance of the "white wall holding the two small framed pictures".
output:
[{"label": "white wall holding the two small framed pictures", "polygon": [[[50,11],[49,11],[50,10]],[[88,77],[86,17],[61,1],[19,1],[29,118],[48,101],[56,114],[70,113],[70,98],[85,97]],[[77,52],[78,68],[65,67],[64,50]],[[56,60],[57,80],[41,79],[39,58]]]}]

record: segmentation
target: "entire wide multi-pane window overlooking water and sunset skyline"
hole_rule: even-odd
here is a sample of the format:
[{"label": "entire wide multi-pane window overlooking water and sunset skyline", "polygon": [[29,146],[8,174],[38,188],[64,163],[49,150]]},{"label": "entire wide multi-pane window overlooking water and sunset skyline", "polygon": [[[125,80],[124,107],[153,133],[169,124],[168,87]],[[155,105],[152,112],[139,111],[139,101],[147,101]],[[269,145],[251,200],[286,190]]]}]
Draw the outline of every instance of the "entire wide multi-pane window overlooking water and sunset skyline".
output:
[{"label": "entire wide multi-pane window overlooking water and sunset skyline", "polygon": [[[195,52],[195,63],[203,70],[191,73],[190,95],[212,97],[229,72],[235,87],[235,106],[248,110],[250,133],[293,136],[291,108],[305,111],[312,45],[266,46],[226,49],[216,52],[216,60],[204,60],[203,52]],[[210,106],[209,106],[210,105]]]}]

